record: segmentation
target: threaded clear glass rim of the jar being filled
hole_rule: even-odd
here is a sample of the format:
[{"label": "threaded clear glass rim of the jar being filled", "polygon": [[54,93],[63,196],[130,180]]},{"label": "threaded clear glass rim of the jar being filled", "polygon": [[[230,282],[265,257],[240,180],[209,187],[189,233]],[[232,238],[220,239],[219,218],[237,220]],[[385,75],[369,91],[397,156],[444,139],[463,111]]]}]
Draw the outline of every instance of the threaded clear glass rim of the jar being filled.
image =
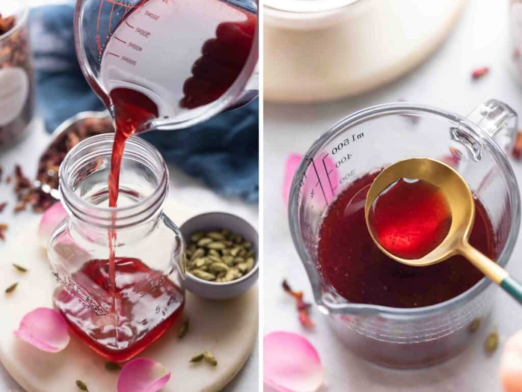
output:
[{"label": "threaded clear glass rim of the jar being filled", "polygon": [[[72,183],[79,170],[91,163],[94,157],[110,156],[114,135],[114,133],[106,133],[88,137],[67,153],[60,165],[60,197],[65,209],[80,220],[99,227],[122,228],[146,221],[157,214],[168,194],[169,171],[160,152],[152,144],[141,137],[132,136],[125,142],[122,162],[132,157],[135,160],[143,159],[141,162],[149,167],[154,165],[153,169],[156,170],[158,178],[153,191],[136,203],[122,207],[101,206],[82,199],[72,188]],[[98,155],[92,152],[89,154],[94,147]],[[147,154],[147,157],[137,154],[136,151]],[[80,160],[84,154],[88,155]]]}]

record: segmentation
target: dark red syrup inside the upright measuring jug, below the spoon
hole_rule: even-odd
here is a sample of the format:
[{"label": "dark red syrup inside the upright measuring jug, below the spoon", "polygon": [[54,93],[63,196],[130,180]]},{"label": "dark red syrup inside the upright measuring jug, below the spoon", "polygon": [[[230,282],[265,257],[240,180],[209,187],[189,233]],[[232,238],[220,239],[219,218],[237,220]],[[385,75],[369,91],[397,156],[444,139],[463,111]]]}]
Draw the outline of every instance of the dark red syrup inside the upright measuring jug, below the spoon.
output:
[{"label": "dark red syrup inside the upright measuring jug, below the spoon", "polygon": [[[352,182],[323,217],[318,267],[327,284],[353,303],[413,308],[447,301],[483,278],[461,256],[429,267],[410,267],[388,258],[370,236],[364,203],[347,209],[352,198],[369,187],[377,175],[367,174]],[[469,242],[484,255],[492,259],[496,256],[493,226],[478,199]]]}]

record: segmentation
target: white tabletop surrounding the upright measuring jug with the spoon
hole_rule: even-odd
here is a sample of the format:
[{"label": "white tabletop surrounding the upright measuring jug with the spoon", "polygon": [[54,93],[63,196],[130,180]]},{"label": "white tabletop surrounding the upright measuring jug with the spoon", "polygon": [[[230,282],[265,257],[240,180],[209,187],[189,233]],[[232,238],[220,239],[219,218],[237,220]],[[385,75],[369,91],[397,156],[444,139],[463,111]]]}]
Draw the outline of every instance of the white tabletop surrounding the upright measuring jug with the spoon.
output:
[{"label": "white tabletop surrounding the upright measuring jug with the spoon", "polygon": [[[311,299],[311,288],[292,245],[287,210],[281,198],[283,168],[289,153],[304,153],[330,125],[351,112],[399,99],[426,103],[466,114],[489,98],[504,100],[522,114],[522,89],[508,73],[507,0],[471,0],[465,14],[446,43],[417,70],[384,88],[358,98],[316,105],[271,105],[264,116],[264,333],[290,330],[303,333],[317,348],[326,373],[323,392],[500,392],[497,367],[500,350],[485,356],[481,337],[458,358],[423,371],[388,371],[362,362],[344,349],[329,331],[317,309],[313,331],[304,330],[295,315],[294,303],[280,289],[289,279],[296,290]],[[470,80],[471,70],[491,66],[481,80]],[[512,162],[522,182],[522,163]],[[509,270],[522,279],[522,239],[519,238]],[[492,328],[497,326],[501,344],[522,329],[522,309],[511,298],[496,293]],[[268,388],[266,388],[268,390]]]}]

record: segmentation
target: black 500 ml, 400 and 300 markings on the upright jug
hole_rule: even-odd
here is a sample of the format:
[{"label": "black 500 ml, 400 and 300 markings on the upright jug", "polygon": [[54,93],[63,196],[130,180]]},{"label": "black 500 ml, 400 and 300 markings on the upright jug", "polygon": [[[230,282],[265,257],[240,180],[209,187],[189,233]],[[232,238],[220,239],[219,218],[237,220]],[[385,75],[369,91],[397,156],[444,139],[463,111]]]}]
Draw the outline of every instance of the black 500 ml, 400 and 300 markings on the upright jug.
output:
[{"label": "black 500 ml, 400 and 300 markings on the upright jug", "polygon": [[[333,198],[335,196],[335,191],[338,187],[338,185],[343,185],[349,178],[353,177],[355,175],[355,169],[350,170],[349,172],[346,172],[343,174],[342,177],[333,175],[335,170],[340,169],[340,167],[344,164],[346,164],[352,157],[352,153],[346,152],[344,149],[346,146],[353,144],[361,139],[364,138],[364,133],[354,133],[347,139],[339,142],[337,145],[331,148],[331,151],[324,154],[322,156],[322,167],[319,166],[319,168],[316,166],[316,163],[314,159],[307,158],[308,159],[308,166],[312,165],[313,170],[315,172],[315,175],[317,177],[317,182],[313,186],[313,188],[310,191],[310,197],[313,199],[315,195],[314,189],[319,186],[321,189],[321,193],[323,194],[323,198],[325,200],[325,203],[328,203],[328,198],[325,191],[326,184],[323,183],[324,180],[328,182],[328,188],[331,192],[331,197]],[[321,155],[323,155],[321,154]],[[331,154],[331,157],[330,157]],[[319,157],[321,157],[321,155]],[[317,158],[318,159],[318,158]],[[330,168],[328,168],[328,166]],[[337,173],[339,175],[339,173]],[[326,178],[324,178],[326,176]],[[323,177],[323,178],[322,178]],[[333,179],[334,177],[334,179]],[[338,180],[337,178],[340,177]],[[303,179],[301,180],[301,189],[304,185],[306,179],[306,174],[304,174]],[[334,183],[335,182],[335,183]],[[338,182],[338,183],[337,183]]]}]

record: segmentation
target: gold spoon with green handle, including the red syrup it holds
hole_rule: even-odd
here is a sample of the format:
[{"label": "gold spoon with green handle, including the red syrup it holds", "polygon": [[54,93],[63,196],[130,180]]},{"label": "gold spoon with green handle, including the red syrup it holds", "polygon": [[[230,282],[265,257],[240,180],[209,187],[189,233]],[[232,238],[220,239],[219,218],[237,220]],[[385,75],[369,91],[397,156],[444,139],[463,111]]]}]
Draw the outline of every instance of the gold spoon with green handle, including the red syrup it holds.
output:
[{"label": "gold spoon with green handle, including the red syrup it holds", "polygon": [[373,181],[364,212],[374,243],[389,258],[426,267],[464,256],[522,304],[522,284],[470,245],[475,201],[452,167],[428,158],[388,166]]}]

